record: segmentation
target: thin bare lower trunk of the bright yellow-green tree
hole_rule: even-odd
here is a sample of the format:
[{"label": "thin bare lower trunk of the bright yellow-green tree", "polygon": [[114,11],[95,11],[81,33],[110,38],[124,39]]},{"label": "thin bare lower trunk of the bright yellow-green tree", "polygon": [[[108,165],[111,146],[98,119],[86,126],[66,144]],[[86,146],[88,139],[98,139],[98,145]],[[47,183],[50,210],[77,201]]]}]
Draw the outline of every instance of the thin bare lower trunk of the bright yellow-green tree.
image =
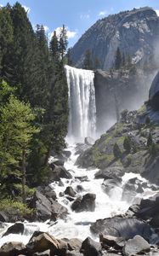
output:
[{"label": "thin bare lower trunk of the bright yellow-green tree", "polygon": [[22,201],[26,204],[26,150],[23,149],[22,155]]}]

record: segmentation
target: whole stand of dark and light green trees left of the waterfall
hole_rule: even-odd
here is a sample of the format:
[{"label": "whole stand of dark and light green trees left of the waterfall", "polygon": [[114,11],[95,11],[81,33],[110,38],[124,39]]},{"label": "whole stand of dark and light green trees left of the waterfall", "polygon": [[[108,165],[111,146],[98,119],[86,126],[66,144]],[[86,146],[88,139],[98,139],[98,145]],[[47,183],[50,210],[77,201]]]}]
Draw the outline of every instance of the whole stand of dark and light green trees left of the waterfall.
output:
[{"label": "whole stand of dark and light green trees left of the waterfall", "polygon": [[65,147],[66,48],[65,26],[60,35],[54,32],[48,47],[44,27],[37,25],[34,32],[20,3],[0,9],[0,189],[3,195],[14,196],[14,184],[22,183],[24,194],[26,183],[38,185],[47,180],[50,151]]}]

